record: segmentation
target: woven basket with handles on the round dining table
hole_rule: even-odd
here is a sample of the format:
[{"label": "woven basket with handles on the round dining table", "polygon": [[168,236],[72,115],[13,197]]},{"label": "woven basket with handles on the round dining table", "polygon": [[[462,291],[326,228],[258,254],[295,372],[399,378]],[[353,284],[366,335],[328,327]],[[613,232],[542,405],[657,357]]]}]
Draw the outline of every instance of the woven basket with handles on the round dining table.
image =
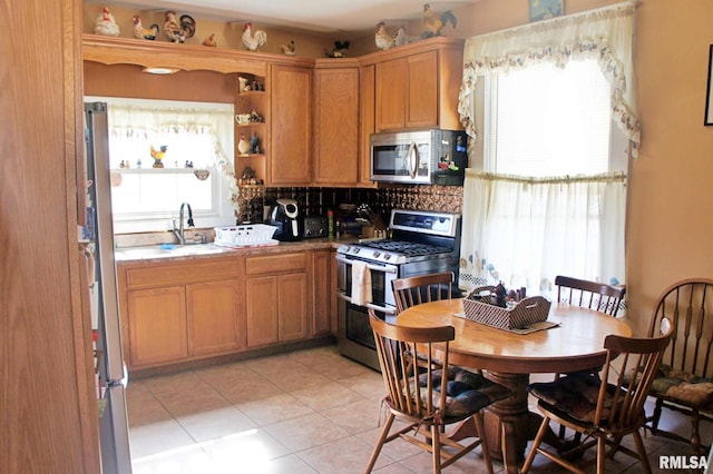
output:
[{"label": "woven basket with handles on the round dining table", "polygon": [[529,296],[504,308],[496,305],[495,293],[482,287],[475,288],[463,299],[467,319],[500,329],[522,329],[547,320],[550,305],[541,296]]}]

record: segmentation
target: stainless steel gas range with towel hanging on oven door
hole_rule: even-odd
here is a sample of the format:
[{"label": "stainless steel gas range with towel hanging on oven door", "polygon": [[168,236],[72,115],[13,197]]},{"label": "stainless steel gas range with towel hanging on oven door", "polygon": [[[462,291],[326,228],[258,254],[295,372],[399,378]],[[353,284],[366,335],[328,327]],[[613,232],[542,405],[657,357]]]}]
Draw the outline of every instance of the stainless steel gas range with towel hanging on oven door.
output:
[{"label": "stainless steel gas range with towel hanging on oven door", "polygon": [[[377,371],[379,361],[367,308],[385,320],[393,319],[397,308],[391,282],[439,271],[452,271],[457,279],[460,254],[458,214],[393,209],[389,227],[389,239],[345,244],[336,250],[339,350]],[[354,271],[360,277],[369,273],[370,298],[361,295],[356,287],[360,278],[352,278]]]}]

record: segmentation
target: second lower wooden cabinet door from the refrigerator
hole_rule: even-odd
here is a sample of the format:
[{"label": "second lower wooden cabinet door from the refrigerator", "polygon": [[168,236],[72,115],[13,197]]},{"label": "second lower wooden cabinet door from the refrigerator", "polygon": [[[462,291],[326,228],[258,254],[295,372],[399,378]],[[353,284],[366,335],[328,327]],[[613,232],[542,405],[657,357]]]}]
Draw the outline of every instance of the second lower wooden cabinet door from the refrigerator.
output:
[{"label": "second lower wooden cabinet door from the refrigerator", "polygon": [[186,287],[188,353],[192,356],[229,353],[245,346],[241,327],[238,282],[214,282]]}]

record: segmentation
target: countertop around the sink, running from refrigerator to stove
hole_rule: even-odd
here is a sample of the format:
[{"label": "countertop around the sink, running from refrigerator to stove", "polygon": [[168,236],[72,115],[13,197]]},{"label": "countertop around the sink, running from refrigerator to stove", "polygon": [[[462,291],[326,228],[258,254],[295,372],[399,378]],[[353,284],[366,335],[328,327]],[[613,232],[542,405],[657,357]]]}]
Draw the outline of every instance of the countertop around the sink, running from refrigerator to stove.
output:
[{"label": "countertop around the sink, running from refrigerator to stove", "polygon": [[358,237],[311,238],[300,241],[281,241],[272,246],[222,247],[214,244],[176,246],[173,249],[159,245],[119,247],[115,250],[118,265],[146,264],[149,261],[192,260],[198,258],[281,254],[290,251],[323,250],[338,248],[342,244],[359,241]]}]

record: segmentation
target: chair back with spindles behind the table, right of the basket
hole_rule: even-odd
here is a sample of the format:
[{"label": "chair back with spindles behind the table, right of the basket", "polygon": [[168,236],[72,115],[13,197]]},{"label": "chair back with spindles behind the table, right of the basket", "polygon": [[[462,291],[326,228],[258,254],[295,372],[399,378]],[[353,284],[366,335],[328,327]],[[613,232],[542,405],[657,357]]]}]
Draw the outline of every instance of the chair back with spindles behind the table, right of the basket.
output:
[{"label": "chair back with spindles behind the table, right of the basket", "polygon": [[609,316],[617,315],[626,295],[625,286],[613,286],[564,275],[555,277],[555,285],[559,303],[596,309]]}]

